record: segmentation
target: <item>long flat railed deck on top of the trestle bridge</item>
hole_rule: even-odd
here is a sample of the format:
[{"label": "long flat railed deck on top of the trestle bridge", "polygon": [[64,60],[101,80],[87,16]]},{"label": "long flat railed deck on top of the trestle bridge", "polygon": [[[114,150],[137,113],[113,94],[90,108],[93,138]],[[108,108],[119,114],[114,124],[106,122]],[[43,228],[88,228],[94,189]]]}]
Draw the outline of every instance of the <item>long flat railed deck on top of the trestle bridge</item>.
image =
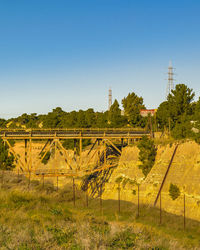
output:
[{"label": "long flat railed deck on top of the trestle bridge", "polygon": [[0,137],[7,139],[93,139],[141,138],[149,131],[134,129],[1,129]]}]

